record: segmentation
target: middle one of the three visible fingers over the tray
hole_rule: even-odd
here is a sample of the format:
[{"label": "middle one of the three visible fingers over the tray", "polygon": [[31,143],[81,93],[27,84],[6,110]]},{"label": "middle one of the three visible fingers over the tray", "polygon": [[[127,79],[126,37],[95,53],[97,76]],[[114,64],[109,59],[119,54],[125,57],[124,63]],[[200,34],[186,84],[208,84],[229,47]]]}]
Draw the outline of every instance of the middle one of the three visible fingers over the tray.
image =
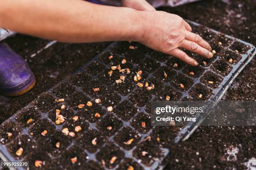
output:
[{"label": "middle one of the three visible fingers over the tray", "polygon": [[197,43],[186,40],[186,39],[182,40],[180,47],[185,48],[189,51],[195,52],[195,53],[202,55],[203,57],[206,57],[206,58],[213,57],[212,52],[201,47]]}]

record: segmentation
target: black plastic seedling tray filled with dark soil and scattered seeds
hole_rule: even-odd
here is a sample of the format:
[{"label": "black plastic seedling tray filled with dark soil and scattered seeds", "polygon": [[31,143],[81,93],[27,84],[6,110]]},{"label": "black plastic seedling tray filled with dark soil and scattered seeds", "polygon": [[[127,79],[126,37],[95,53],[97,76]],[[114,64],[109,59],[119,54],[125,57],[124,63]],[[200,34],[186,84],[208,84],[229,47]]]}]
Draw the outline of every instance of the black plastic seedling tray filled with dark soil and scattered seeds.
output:
[{"label": "black plastic seedling tray filled with dark soil and scattered seeds", "polygon": [[[255,47],[247,42],[189,23],[193,31],[210,42],[212,50],[216,51],[212,59],[188,52],[200,63],[198,67],[190,67],[139,43],[114,42],[74,75],[42,93],[3,122],[0,126],[0,158],[29,161],[31,169],[36,168],[36,160],[42,161],[43,169],[164,168],[171,156],[169,146],[187,139],[200,123],[183,128],[153,127],[150,125],[150,103],[166,100],[166,95],[171,97],[170,100],[215,103],[256,53]],[[113,56],[111,60],[110,56]],[[121,64],[123,59],[127,61],[125,64]],[[131,72],[116,69],[110,76],[111,66],[119,64],[121,69],[129,68]],[[142,79],[138,82],[154,84],[153,90],[136,85],[134,75],[139,70]],[[120,75],[126,77],[124,82],[117,84],[115,81]],[[95,92],[94,88],[100,90]],[[198,97],[200,94],[202,97]],[[64,102],[56,101],[62,98]],[[100,104],[95,103],[97,98],[100,98]],[[88,101],[92,102],[91,107],[87,106]],[[79,108],[80,104],[85,106]],[[61,110],[61,105],[66,108]],[[109,106],[113,111],[108,112]],[[55,123],[56,109],[65,117],[60,125]],[[96,113],[100,117],[95,117]],[[78,116],[76,121],[74,116]],[[27,123],[30,119],[32,121]],[[77,125],[82,128],[79,132],[74,130]],[[61,132],[64,128],[74,132],[75,136],[64,135]],[[12,136],[9,138],[7,133]],[[58,142],[59,148],[56,147]],[[23,148],[20,156],[15,153],[19,148]]]}]

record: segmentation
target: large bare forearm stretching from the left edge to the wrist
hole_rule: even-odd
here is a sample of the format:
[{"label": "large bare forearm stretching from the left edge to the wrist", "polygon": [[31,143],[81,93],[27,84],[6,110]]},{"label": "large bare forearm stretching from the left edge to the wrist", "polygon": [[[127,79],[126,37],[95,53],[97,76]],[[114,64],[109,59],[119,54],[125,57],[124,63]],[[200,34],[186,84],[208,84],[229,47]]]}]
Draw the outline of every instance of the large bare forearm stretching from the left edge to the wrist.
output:
[{"label": "large bare forearm stretching from the left edge to the wrist", "polygon": [[0,0],[0,27],[63,42],[138,41],[141,12],[82,0]]}]

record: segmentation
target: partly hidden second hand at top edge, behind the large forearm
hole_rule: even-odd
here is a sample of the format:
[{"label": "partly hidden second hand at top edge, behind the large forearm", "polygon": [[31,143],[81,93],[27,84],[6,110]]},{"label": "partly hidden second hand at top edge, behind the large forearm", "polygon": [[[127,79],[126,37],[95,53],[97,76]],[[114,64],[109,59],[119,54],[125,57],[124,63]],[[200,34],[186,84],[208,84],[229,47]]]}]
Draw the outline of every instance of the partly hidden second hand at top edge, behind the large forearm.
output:
[{"label": "partly hidden second hand at top edge, behind the large forearm", "polygon": [[130,7],[140,11],[155,11],[156,9],[151,6],[146,0],[122,0],[122,7]]}]

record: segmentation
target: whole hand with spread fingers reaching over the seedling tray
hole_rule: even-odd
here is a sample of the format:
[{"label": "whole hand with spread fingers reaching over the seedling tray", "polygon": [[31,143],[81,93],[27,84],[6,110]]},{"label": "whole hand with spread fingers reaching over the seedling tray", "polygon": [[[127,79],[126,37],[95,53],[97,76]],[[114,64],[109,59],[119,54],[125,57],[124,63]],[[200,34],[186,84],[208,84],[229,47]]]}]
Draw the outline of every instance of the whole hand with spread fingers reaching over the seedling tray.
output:
[{"label": "whole hand with spread fingers reaching over the seedling tray", "polygon": [[192,33],[190,25],[178,15],[162,11],[143,11],[143,30],[139,41],[160,52],[173,55],[189,65],[198,63],[179,47],[206,58],[213,57],[210,45],[199,35]]}]

